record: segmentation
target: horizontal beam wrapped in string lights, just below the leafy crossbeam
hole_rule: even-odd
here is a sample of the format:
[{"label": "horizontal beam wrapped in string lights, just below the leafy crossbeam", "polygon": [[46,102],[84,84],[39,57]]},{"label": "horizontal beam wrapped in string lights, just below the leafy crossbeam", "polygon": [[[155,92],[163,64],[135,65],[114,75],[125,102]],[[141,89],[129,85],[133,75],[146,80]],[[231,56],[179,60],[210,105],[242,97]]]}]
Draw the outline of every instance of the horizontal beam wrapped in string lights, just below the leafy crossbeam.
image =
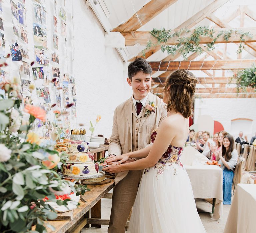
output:
[{"label": "horizontal beam wrapped in string lights, just below the leafy crossbeam", "polygon": [[213,60],[213,61],[180,61],[149,62],[153,71],[187,70],[232,70],[249,68],[256,59]]}]

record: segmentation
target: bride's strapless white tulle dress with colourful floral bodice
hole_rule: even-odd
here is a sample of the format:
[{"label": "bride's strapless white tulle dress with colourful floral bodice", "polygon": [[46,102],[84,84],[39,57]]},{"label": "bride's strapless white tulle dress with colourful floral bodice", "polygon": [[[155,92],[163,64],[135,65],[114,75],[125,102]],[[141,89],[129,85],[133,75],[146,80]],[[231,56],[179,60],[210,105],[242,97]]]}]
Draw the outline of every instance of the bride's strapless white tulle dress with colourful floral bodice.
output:
[{"label": "bride's strapless white tulle dress with colourful floral bodice", "polygon": [[[151,133],[154,142],[156,130]],[[169,146],[142,175],[133,206],[130,233],[206,232],[197,213],[191,183],[180,163],[182,147]]]}]

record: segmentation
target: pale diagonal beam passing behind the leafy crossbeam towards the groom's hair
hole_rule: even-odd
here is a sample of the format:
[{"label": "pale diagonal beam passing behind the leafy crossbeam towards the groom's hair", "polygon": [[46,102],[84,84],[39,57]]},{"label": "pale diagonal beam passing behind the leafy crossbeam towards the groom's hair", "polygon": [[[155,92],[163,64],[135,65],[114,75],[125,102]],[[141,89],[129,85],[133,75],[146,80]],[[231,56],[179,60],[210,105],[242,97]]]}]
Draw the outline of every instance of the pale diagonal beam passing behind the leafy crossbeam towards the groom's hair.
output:
[{"label": "pale diagonal beam passing behind the leafy crossbeam towards the groom's hair", "polygon": [[[186,20],[184,23],[182,23],[180,26],[178,26],[175,29],[181,29],[181,28],[187,28],[190,29],[196,24],[198,24],[201,20],[203,20],[207,15],[211,14],[212,12],[216,11],[218,8],[223,6],[225,3],[227,3],[229,0],[215,0],[214,2],[210,3],[208,6],[206,6],[201,11],[197,12],[195,15],[193,15],[191,18]],[[145,56],[143,54],[143,51],[141,51],[137,56],[133,57],[129,61],[134,61],[136,58],[144,57],[148,58],[152,54],[156,53],[161,49],[160,46],[156,46],[153,48],[149,48],[148,50],[144,51]]]}]

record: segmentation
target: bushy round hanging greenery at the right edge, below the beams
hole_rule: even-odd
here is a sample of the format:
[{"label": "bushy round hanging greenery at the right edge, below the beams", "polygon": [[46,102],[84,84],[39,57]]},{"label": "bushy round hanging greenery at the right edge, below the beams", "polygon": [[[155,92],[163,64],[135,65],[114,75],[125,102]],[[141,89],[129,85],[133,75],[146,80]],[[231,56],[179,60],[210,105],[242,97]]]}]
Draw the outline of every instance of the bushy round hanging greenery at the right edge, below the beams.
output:
[{"label": "bushy round hanging greenery at the right edge, below the beams", "polygon": [[247,87],[254,88],[256,92],[256,65],[238,71],[232,79],[236,79],[237,92],[239,92],[239,89],[246,91]]}]

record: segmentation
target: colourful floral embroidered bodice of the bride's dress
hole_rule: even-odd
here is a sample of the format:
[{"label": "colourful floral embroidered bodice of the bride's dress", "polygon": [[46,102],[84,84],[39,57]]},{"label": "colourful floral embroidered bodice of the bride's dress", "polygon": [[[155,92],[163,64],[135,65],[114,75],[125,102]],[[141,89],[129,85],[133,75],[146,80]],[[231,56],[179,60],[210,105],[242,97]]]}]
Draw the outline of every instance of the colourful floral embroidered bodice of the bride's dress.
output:
[{"label": "colourful floral embroidered bodice of the bride's dress", "polygon": [[[154,141],[155,141],[156,134],[157,134],[157,132],[155,129],[155,130],[153,130],[153,132],[150,135],[152,143],[154,143]],[[172,165],[172,163],[176,163],[176,164],[180,165],[181,167],[183,167],[180,162],[180,156],[181,156],[182,151],[183,151],[183,147],[176,147],[176,146],[169,145],[169,147],[167,148],[165,153],[162,155],[162,157],[158,160],[158,162],[156,163],[154,168],[157,168],[158,173],[161,174],[164,171],[165,166],[166,165],[170,166],[170,165]],[[146,168],[144,170],[144,174],[148,171],[149,171],[149,168]],[[176,169],[175,169],[175,173],[176,173]]]}]

